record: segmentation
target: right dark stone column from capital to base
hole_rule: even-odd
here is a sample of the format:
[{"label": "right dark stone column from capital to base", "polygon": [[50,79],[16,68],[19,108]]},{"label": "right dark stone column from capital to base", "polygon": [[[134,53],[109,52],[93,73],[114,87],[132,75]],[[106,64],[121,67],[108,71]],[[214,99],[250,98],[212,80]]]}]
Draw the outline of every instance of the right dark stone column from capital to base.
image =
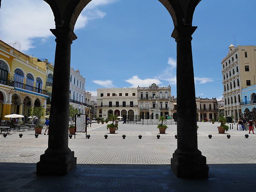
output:
[{"label": "right dark stone column from capital to base", "polygon": [[[180,178],[207,178],[206,157],[198,150],[192,34],[197,27],[177,26],[172,37],[177,42],[177,149],[171,168]],[[184,77],[186,75],[186,77]]]}]

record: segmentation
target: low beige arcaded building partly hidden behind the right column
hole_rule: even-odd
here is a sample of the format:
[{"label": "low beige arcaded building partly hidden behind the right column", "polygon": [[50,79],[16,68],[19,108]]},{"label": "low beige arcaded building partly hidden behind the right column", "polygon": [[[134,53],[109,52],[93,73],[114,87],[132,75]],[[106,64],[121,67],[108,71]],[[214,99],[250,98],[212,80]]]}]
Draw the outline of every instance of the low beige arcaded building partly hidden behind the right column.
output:
[{"label": "low beige arcaded building partly hidden behind the right column", "polygon": [[[218,101],[216,98],[208,99],[196,97],[196,111],[197,111],[197,121],[207,118],[218,119]],[[176,121],[177,118],[177,98],[172,98],[172,117]]]}]

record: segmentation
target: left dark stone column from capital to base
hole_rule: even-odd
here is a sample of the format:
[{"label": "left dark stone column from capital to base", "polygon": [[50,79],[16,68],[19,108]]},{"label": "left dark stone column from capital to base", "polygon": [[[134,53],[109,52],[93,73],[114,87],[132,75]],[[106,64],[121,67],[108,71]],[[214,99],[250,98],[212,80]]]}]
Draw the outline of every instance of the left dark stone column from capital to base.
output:
[{"label": "left dark stone column from capital to base", "polygon": [[68,147],[70,102],[70,53],[72,41],[77,37],[73,30],[51,29],[55,35],[56,49],[52,102],[50,111],[48,149],[37,163],[37,174],[66,175],[76,167],[74,152]]}]

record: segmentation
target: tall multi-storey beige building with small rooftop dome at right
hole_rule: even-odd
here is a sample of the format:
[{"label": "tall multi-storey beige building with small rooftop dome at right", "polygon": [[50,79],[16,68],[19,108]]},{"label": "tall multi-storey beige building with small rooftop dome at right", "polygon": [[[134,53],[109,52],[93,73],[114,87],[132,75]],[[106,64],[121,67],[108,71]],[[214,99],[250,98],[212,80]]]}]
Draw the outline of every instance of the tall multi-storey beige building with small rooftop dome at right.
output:
[{"label": "tall multi-storey beige building with small rooftop dome at right", "polygon": [[241,113],[241,89],[255,85],[256,46],[229,46],[221,61],[224,114],[237,120]]}]

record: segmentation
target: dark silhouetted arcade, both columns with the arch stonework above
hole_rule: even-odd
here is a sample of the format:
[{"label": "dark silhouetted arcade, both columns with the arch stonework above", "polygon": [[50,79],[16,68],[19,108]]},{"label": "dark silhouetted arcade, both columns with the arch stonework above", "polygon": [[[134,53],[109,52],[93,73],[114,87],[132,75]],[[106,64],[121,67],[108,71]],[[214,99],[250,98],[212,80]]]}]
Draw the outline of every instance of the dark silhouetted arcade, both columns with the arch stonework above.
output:
[{"label": "dark silhouetted arcade, both columns with the arch stonework above", "polygon": [[[45,0],[55,17],[55,67],[50,111],[48,149],[37,163],[37,174],[64,175],[76,167],[74,152],[68,147],[69,77],[71,44],[76,40],[76,20],[91,0]],[[159,0],[174,23],[172,37],[177,42],[177,149],[171,159],[172,171],[181,178],[206,178],[206,158],[198,150],[195,84],[192,60],[192,17],[200,0]],[[184,78],[183,74],[186,74]],[[189,123],[185,123],[189,122]],[[154,150],[154,149],[152,149]]]}]

